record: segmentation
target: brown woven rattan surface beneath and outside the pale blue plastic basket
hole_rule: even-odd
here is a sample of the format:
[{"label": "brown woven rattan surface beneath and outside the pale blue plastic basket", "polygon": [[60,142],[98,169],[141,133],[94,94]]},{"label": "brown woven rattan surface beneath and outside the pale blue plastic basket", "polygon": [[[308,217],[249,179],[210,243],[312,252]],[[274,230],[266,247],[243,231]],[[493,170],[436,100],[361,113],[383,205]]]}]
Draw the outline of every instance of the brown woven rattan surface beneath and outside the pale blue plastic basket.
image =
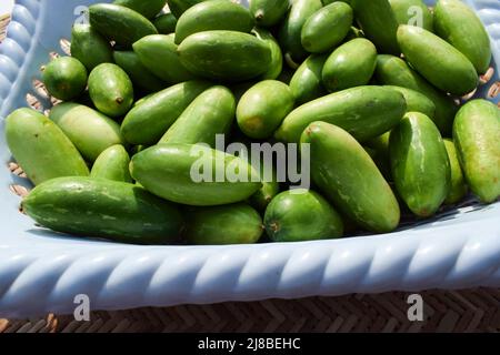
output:
[{"label": "brown woven rattan surface beneath and outside the pale blue plastic basket", "polygon": [[[8,17],[0,16],[0,41]],[[54,332],[500,332],[500,290],[426,291],[423,321],[408,293],[92,312],[90,322],[49,314],[1,320],[0,333]]]}]

